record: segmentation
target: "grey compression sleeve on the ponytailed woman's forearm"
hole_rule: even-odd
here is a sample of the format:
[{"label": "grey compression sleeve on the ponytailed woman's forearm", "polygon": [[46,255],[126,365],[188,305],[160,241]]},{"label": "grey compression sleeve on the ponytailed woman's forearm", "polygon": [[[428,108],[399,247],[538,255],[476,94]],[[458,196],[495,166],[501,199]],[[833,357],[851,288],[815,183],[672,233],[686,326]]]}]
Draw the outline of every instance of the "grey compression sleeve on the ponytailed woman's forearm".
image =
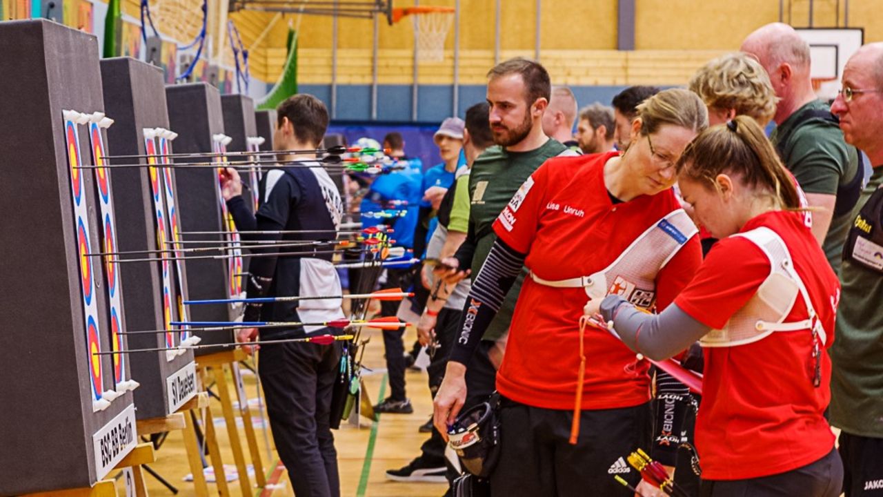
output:
[{"label": "grey compression sleeve on the ponytailed woman's forearm", "polygon": [[619,295],[601,301],[604,320],[613,321],[616,335],[635,352],[654,361],[668,359],[711,331],[674,303],[660,314],[635,309]]}]

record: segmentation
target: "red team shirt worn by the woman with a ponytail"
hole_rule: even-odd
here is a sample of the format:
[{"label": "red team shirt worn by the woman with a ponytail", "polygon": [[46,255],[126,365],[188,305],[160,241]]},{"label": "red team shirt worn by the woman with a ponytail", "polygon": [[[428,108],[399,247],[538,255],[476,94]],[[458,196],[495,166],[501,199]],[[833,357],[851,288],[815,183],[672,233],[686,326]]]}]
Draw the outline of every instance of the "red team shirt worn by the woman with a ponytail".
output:
[{"label": "red team shirt worn by the woman with a ponytail", "polygon": [[[766,226],[789,248],[797,274],[834,341],[840,284],[819,243],[793,212],[767,212],[742,232]],[[719,329],[754,295],[770,272],[769,259],[743,237],[719,241],[675,304],[704,325]],[[798,296],[786,322],[808,317]],[[818,461],[834,447],[823,412],[830,401],[831,361],[821,353],[821,386],[812,386],[809,330],[774,332],[762,340],[705,348],[703,399],[696,423],[702,478],[758,478]],[[507,351],[508,354],[508,351]]]}]

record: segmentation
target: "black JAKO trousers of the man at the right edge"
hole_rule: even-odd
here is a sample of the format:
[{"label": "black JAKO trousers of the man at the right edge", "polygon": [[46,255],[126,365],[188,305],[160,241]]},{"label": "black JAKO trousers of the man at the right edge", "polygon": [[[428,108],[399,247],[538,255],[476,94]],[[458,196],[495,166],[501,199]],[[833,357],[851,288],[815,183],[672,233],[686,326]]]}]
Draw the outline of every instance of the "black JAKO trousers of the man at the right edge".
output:
[{"label": "black JAKO trousers of the man at the right edge", "polygon": [[846,497],[883,497],[883,439],[840,432],[840,455]]}]

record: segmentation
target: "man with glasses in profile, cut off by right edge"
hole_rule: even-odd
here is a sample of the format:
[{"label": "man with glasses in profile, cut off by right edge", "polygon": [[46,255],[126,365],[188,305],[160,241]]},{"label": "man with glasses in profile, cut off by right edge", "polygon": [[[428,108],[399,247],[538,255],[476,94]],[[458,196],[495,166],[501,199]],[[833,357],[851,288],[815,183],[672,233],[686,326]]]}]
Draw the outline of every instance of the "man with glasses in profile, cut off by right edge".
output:
[{"label": "man with glasses in profile, cut off by right edge", "polygon": [[883,495],[883,43],[849,58],[831,111],[874,166],[843,248],[831,381],[831,424],[841,429],[843,492]]}]

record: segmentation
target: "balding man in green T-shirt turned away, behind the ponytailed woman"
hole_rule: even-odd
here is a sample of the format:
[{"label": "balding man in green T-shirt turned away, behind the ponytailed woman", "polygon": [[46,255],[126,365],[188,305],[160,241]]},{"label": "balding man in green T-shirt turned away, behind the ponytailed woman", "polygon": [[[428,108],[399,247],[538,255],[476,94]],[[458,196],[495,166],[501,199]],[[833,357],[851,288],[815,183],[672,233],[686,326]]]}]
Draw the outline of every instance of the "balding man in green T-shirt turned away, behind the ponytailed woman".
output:
[{"label": "balding man in green T-shirt turned away, behind the ponytailed woman", "polygon": [[812,212],[812,233],[839,272],[864,179],[857,150],[843,141],[830,108],[812,89],[810,46],[793,27],[760,27],[745,38],[742,51],[757,57],[769,74],[779,97],[770,140],[810,206],[819,208]]}]

